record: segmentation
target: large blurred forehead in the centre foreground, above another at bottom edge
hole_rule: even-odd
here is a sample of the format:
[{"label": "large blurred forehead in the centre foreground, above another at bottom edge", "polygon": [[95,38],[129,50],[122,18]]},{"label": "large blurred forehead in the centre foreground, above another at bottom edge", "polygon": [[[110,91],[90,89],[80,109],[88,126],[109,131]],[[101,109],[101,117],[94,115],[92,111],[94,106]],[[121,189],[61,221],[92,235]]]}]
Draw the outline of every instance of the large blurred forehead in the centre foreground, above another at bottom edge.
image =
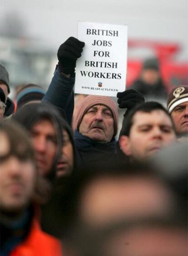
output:
[{"label": "large blurred forehead in the centre foreground, above another at bottom edge", "polygon": [[102,226],[124,217],[161,216],[171,204],[171,194],[157,181],[104,177],[86,186],[79,212],[87,224]]}]

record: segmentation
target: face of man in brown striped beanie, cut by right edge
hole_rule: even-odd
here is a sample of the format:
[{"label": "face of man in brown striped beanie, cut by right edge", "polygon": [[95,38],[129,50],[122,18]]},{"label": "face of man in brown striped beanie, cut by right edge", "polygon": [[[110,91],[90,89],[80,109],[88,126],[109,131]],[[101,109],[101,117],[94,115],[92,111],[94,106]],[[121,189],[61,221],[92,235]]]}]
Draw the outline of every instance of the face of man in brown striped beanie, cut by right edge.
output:
[{"label": "face of man in brown striped beanie, cut by right edge", "polygon": [[188,102],[176,106],[171,116],[177,133],[188,132]]}]

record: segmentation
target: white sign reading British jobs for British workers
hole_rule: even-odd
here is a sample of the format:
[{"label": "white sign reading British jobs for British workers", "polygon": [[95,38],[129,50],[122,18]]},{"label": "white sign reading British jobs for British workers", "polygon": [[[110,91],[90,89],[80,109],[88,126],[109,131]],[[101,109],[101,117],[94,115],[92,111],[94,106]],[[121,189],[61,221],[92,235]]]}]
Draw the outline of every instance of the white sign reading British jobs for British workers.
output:
[{"label": "white sign reading British jobs for British workers", "polygon": [[75,93],[116,96],[125,90],[127,26],[79,22],[85,43],[76,62]]}]

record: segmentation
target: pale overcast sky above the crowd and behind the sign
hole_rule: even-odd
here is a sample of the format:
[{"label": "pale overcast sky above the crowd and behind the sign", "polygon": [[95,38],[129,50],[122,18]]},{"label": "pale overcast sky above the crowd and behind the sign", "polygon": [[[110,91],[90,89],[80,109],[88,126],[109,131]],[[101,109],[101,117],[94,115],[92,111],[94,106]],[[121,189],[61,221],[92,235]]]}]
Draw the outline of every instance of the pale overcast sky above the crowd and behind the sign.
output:
[{"label": "pale overcast sky above the crowd and behind the sign", "polygon": [[[1,31],[10,17],[19,33],[56,49],[77,36],[78,21],[128,25],[128,37],[175,41],[188,47],[188,0],[0,0]],[[14,20],[14,19],[13,19]],[[15,26],[15,30],[16,30]]]}]

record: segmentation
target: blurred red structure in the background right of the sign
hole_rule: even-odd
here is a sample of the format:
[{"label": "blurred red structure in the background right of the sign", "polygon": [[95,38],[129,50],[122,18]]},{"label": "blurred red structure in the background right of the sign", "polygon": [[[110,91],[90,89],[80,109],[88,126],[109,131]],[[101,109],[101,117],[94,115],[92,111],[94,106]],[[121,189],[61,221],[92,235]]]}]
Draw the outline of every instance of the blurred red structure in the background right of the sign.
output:
[{"label": "blurred red structure in the background right of the sign", "polygon": [[[150,40],[129,40],[128,49],[147,48],[158,58],[164,84],[170,91],[176,85],[188,85],[188,63],[177,62],[175,55],[181,50],[176,43],[160,43]],[[139,77],[143,60],[128,60],[127,86]]]}]

